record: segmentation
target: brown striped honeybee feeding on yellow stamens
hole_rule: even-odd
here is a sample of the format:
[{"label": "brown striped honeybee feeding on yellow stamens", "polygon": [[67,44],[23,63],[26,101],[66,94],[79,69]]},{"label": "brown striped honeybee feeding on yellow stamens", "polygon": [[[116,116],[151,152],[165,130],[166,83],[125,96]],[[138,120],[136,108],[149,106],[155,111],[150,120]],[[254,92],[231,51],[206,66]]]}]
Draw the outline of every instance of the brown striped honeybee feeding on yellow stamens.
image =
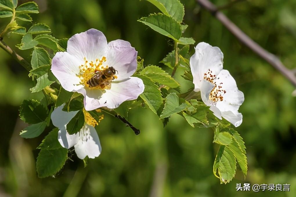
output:
[{"label": "brown striped honeybee feeding on yellow stamens", "polygon": [[89,87],[98,87],[99,89],[110,89],[111,81],[115,79],[115,73],[118,73],[112,66],[102,71],[95,71],[94,75],[86,82]]}]

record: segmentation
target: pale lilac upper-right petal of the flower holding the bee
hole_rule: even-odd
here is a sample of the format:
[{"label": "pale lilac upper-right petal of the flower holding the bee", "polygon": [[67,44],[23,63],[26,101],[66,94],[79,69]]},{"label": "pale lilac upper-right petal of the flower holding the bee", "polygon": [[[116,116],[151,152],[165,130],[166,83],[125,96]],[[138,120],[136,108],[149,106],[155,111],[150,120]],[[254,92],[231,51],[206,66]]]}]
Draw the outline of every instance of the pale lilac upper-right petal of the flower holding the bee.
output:
[{"label": "pale lilac upper-right petal of the flower holding the bee", "polygon": [[117,79],[120,81],[132,76],[137,69],[137,51],[124,40],[114,40],[108,43],[106,64],[118,71]]}]

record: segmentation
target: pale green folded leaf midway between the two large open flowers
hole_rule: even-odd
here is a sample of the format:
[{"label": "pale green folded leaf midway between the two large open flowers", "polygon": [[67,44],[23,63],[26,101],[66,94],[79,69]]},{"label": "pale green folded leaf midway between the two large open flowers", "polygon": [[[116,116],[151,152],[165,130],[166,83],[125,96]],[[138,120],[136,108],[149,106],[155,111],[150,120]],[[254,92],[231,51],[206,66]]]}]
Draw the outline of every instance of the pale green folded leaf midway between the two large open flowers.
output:
[{"label": "pale green folded leaf midway between the two large open flowers", "polygon": [[170,93],[166,97],[165,101],[165,107],[163,108],[163,112],[160,115],[160,118],[167,118],[174,113],[179,113],[186,109],[186,104],[182,103],[179,105],[179,97],[176,95],[176,93]]}]

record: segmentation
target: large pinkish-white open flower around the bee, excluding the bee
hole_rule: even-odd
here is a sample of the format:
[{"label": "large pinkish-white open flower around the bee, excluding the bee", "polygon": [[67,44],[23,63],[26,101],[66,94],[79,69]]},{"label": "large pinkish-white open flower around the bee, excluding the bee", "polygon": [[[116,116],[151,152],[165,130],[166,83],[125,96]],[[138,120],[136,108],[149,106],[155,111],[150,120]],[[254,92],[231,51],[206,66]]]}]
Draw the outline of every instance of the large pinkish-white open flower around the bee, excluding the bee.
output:
[{"label": "large pinkish-white open flower around the bee, excluding the bee", "polygon": [[[131,77],[137,69],[136,58],[137,51],[129,42],[114,40],[107,43],[102,32],[90,29],[68,40],[67,52],[55,54],[51,70],[65,90],[84,96],[86,110],[113,109],[126,100],[135,100],[144,91],[143,81]],[[89,86],[88,81],[95,72],[111,67],[116,74],[110,84]]]}]

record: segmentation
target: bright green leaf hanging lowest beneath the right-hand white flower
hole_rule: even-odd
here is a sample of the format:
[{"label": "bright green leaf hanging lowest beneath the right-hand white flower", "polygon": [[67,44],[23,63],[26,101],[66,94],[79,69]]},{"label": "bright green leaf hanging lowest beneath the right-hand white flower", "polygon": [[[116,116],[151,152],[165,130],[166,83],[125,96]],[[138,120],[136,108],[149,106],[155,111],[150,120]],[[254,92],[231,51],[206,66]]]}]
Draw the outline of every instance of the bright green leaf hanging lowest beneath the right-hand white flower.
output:
[{"label": "bright green leaf hanging lowest beneath the right-hand white flower", "polygon": [[229,183],[235,175],[237,161],[232,151],[224,145],[221,145],[213,165],[214,175],[220,178],[221,183]]}]

